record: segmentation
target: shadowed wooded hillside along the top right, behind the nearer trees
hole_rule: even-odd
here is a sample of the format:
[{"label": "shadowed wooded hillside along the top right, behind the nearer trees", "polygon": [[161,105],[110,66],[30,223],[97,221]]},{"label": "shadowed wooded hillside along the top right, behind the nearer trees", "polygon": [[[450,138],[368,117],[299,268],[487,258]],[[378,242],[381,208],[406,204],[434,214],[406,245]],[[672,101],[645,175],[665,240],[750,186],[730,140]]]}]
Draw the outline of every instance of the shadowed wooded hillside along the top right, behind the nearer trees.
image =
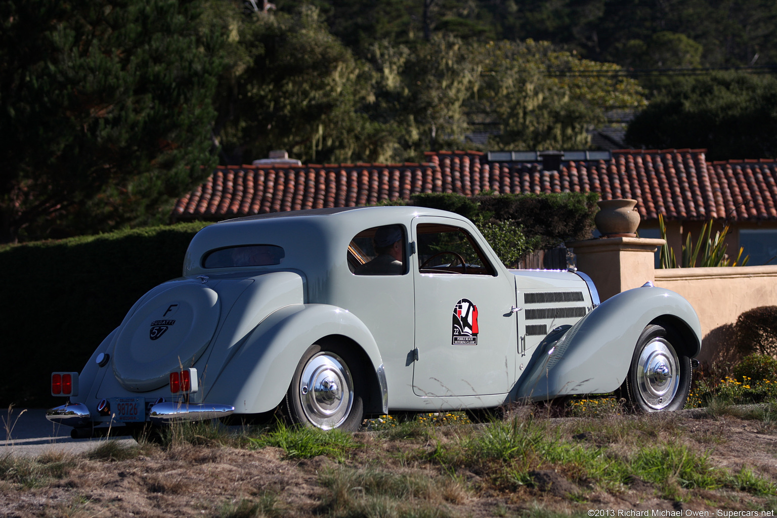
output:
[{"label": "shadowed wooded hillside along the top right, behind the nearer trees", "polygon": [[[277,5],[291,11],[308,1]],[[551,41],[623,67],[777,63],[777,4],[770,0],[315,0],[315,5],[332,33],[357,54],[375,41],[423,39],[426,19],[433,34],[482,42]]]}]

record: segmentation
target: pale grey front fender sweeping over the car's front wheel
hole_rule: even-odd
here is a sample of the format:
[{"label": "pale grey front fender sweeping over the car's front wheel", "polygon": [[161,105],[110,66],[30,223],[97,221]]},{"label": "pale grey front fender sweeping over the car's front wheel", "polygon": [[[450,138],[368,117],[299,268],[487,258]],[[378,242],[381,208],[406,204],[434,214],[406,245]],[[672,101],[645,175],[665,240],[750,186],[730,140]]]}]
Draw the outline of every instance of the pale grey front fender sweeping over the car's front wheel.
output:
[{"label": "pale grey front fender sweeping over the car's front wheel", "polygon": [[625,380],[639,335],[651,323],[678,336],[678,354],[699,354],[702,330],[691,304],[674,291],[639,287],[609,298],[575,325],[546,336],[518,381],[514,398],[614,391]]}]

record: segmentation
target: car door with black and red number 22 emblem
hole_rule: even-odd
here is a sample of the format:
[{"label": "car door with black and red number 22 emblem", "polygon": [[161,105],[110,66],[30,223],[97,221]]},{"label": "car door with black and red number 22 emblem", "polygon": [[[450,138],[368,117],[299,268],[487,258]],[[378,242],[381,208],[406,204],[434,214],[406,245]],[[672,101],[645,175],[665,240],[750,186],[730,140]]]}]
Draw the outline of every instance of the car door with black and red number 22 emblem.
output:
[{"label": "car door with black and red number 22 emblem", "polygon": [[491,263],[468,227],[413,219],[416,395],[503,394],[514,383],[514,276]]}]

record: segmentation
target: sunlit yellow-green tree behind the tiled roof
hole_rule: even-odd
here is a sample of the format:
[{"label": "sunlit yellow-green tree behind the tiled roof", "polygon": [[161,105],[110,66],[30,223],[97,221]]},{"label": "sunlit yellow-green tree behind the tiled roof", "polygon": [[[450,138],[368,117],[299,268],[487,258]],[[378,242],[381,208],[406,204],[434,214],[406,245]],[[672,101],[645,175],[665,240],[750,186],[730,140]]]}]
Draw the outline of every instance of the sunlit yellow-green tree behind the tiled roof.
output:
[{"label": "sunlit yellow-green tree behind the tiled roof", "polygon": [[643,91],[629,78],[601,75],[548,75],[549,70],[617,71],[556,50],[549,42],[502,41],[483,47],[486,74],[483,110],[499,121],[490,140],[498,149],[587,149],[587,130],[605,122],[605,112],[644,106]]}]

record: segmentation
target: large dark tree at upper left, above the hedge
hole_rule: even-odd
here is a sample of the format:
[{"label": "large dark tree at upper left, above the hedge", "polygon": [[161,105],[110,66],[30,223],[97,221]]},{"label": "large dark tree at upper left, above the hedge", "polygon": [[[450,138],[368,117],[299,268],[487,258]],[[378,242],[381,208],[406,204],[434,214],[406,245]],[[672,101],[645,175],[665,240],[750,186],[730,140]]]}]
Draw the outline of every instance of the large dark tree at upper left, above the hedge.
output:
[{"label": "large dark tree at upper left, above the hedge", "polygon": [[200,2],[0,3],[0,242],[166,217],[211,165]]}]

